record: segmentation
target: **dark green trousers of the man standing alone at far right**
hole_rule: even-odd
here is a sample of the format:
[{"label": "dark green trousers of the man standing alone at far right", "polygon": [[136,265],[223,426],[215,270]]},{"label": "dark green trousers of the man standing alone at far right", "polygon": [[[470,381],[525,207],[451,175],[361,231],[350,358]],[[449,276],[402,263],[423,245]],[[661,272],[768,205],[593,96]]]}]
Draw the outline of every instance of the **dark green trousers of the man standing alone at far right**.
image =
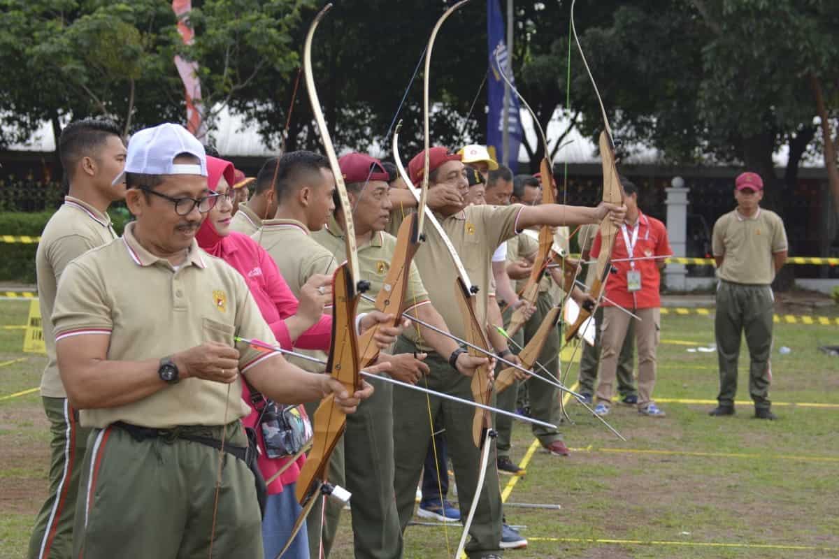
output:
[{"label": "dark green trousers of the man standing alone at far right", "polygon": [[737,394],[737,360],[740,339],[746,333],[749,353],[748,391],[756,409],[769,409],[772,370],[774,296],[768,285],[743,285],[721,281],[717,287],[717,315],[714,334],[720,364],[720,406],[733,406]]}]

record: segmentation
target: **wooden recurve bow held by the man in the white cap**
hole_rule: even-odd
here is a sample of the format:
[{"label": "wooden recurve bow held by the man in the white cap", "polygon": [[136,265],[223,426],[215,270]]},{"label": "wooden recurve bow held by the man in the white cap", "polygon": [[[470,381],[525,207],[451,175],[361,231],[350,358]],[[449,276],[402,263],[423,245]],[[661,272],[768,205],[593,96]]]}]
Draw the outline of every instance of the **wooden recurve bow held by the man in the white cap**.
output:
[{"label": "wooden recurve bow held by the man in the white cap", "polygon": [[[352,223],[352,210],[350,210],[347,189],[344,185],[341,167],[335,148],[332,146],[329,130],[323,112],[320,110],[315,89],[315,79],[312,75],[311,66],[311,44],[315,29],[321,18],[331,8],[327,4],[320,13],[315,16],[311,23],[309,32],[306,34],[303,50],[303,70],[305,75],[306,89],[309,91],[312,112],[315,114],[320,131],[320,138],[326,151],[326,157],[335,175],[336,189],[341,201],[341,211],[344,216],[346,227],[345,242],[347,243],[347,261],[341,264],[332,279],[332,344],[329,360],[326,364],[326,372],[333,378],[340,381],[347,392],[352,394],[362,386],[359,375],[358,344],[356,337],[355,317],[358,300],[361,293],[366,291],[366,282],[360,281],[358,272],[358,259],[356,249],[356,234]],[[326,396],[320,402],[315,414],[312,417],[312,428],[314,437],[309,459],[306,461],[300,478],[297,481],[296,496],[301,505],[306,505],[310,499],[315,499],[317,492],[328,489],[326,470],[331,457],[344,429],[347,426],[347,417],[341,408],[336,405],[333,395]],[[289,540],[294,540],[296,534],[292,534]]]}]

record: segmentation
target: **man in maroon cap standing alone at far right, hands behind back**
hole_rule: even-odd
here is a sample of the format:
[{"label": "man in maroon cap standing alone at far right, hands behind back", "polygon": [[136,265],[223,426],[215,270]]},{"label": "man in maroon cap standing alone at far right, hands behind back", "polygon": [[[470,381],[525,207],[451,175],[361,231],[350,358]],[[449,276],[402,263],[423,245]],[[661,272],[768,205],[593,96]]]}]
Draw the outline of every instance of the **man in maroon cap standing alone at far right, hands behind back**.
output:
[{"label": "man in maroon cap standing alone at far right, hands behind back", "polygon": [[757,173],[737,176],[734,187],[737,209],[714,224],[711,240],[717,261],[717,313],[714,330],[720,365],[719,405],[711,416],[734,413],[737,394],[737,360],[740,339],[748,345],[748,391],[755,417],[775,419],[770,407],[774,295],[771,283],[787,258],[787,237],[779,215],[760,207],[763,179]]}]

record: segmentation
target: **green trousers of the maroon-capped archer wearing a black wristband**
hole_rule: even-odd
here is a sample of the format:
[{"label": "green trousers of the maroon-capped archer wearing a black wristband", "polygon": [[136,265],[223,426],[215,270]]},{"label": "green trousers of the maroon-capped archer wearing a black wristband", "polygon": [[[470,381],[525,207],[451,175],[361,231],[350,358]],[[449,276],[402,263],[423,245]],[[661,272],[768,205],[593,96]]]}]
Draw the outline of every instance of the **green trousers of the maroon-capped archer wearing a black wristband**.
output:
[{"label": "green trousers of the maroon-capped archer wearing a black wristband", "polygon": [[347,416],[344,467],[352,493],[356,559],[402,556],[402,528],[393,494],[393,385],[376,382],[373,396]]}]

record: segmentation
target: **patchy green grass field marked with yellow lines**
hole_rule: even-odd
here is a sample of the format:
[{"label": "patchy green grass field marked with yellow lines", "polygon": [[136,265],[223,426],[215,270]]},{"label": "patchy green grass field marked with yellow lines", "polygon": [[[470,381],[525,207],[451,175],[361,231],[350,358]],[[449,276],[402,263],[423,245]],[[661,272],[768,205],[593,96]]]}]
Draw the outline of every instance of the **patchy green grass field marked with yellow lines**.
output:
[{"label": "patchy green grass field marked with yellow lines", "polygon": [[[2,324],[23,324],[26,314],[26,303],[0,302]],[[508,491],[510,502],[562,509],[505,508],[529,539],[526,550],[507,556],[839,557],[839,358],[817,349],[839,344],[839,329],[780,323],[775,336],[771,396],[779,421],[751,417],[744,367],[737,415],[711,418],[717,355],[687,349],[713,342],[713,321],[663,317],[655,396],[667,417],[614,406],[608,420],[627,437],[623,443],[571,404],[575,424],[562,427],[571,457],[537,450]],[[22,330],[0,330],[0,398],[38,386],[44,358],[21,354],[22,340]],[[789,355],[779,355],[781,346]],[[569,381],[575,377],[572,368]],[[521,460],[533,437],[521,424],[514,436],[513,458]],[[37,392],[0,400],[2,558],[23,556],[44,497],[47,441]],[[500,479],[503,489],[511,479]],[[336,557],[352,556],[344,516]],[[411,526],[405,556],[451,557],[459,536],[455,527]]]}]

